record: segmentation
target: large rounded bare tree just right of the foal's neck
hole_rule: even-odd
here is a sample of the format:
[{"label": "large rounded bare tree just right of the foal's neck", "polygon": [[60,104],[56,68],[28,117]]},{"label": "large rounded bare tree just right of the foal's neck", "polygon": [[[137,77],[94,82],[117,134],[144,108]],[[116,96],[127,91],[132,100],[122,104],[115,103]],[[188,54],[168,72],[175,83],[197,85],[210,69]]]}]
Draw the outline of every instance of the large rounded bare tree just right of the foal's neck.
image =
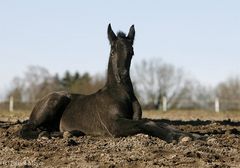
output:
[{"label": "large rounded bare tree just right of the foal's neck", "polygon": [[160,59],[137,63],[133,79],[136,81],[137,90],[141,92],[141,100],[155,108],[161,106],[164,96],[167,97],[169,108],[176,106],[186,84],[182,69],[166,64]]}]

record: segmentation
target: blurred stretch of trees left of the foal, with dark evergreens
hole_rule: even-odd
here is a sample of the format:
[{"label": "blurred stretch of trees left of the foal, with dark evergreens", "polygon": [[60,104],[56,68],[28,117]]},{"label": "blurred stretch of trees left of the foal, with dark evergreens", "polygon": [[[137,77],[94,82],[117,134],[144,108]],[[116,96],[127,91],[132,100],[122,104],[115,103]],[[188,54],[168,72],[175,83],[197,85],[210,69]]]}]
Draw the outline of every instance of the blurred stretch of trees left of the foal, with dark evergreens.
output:
[{"label": "blurred stretch of trees left of the foal, with dark evergreens", "polygon": [[104,85],[104,77],[90,75],[85,72],[71,73],[66,71],[63,76],[52,75],[40,66],[29,66],[23,77],[15,77],[12,89],[8,93],[15,101],[36,102],[43,96],[54,91],[68,91],[73,93],[91,94]]}]

